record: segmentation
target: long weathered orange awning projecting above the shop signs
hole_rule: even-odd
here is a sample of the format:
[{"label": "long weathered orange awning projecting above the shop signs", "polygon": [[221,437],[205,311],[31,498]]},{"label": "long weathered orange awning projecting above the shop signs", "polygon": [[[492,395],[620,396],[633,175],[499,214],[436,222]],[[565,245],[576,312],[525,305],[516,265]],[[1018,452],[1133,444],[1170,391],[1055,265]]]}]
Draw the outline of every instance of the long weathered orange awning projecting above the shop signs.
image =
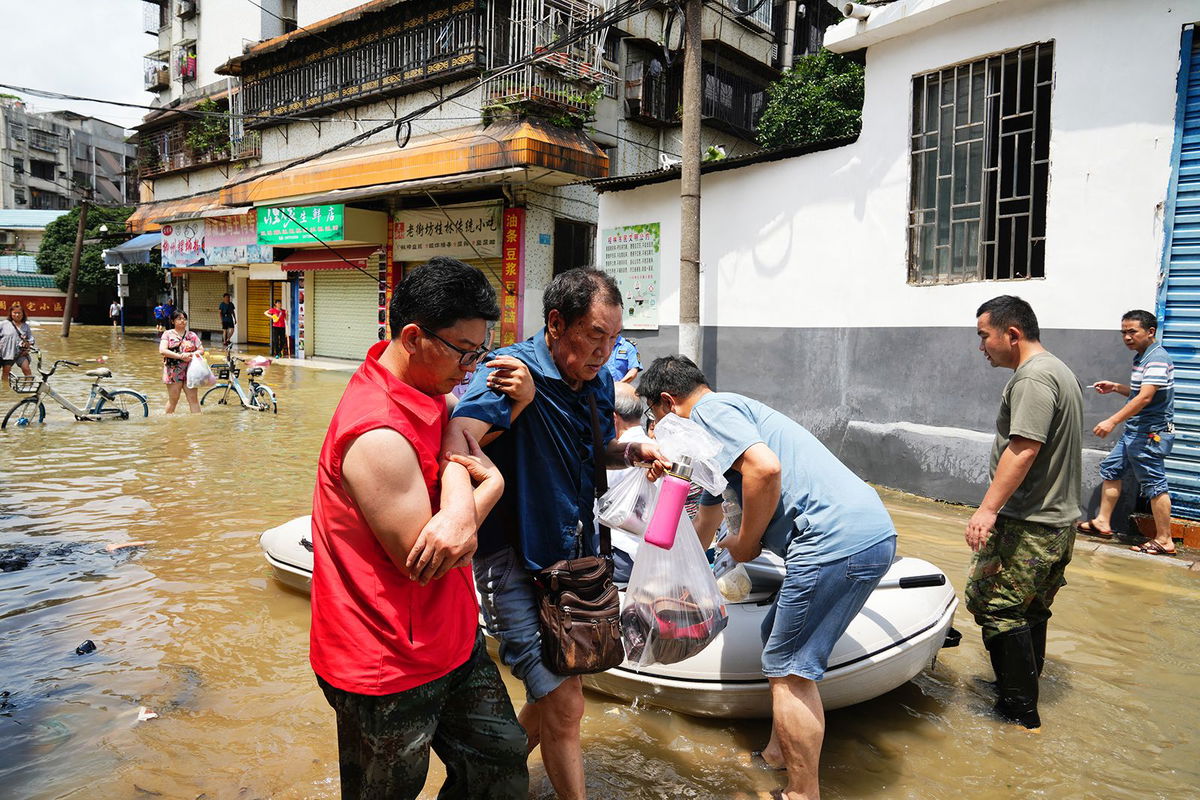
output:
[{"label": "long weathered orange awning projecting above the shop signs", "polygon": [[[269,173],[280,167],[258,169]],[[486,131],[476,126],[414,137],[404,148],[391,143],[346,148],[258,180],[251,170],[236,173],[221,190],[221,201],[236,206],[402,181],[445,178],[454,182],[460,175],[488,173],[497,184],[560,186],[607,175],[608,157],[582,131],[535,119],[497,122]],[[436,187],[436,182],[430,185]]]}]

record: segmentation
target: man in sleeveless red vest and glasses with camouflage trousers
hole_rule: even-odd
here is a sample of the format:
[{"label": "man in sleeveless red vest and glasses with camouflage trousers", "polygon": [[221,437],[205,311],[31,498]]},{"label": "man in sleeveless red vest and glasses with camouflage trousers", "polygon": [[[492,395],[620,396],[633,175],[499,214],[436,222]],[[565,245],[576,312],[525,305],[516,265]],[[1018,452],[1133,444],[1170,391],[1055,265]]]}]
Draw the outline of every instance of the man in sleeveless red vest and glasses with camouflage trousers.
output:
[{"label": "man in sleeveless red vest and glasses with camouflage trousers", "polygon": [[[446,768],[438,798],[524,800],[524,733],[484,646],[470,567],[504,481],[474,443],[438,459],[445,393],[487,355],[496,293],[436,258],[389,311],[392,338],[346,387],[313,493],[310,660],[337,714],[342,796],[415,798],[432,747]],[[532,393],[506,366],[498,387]]]}]

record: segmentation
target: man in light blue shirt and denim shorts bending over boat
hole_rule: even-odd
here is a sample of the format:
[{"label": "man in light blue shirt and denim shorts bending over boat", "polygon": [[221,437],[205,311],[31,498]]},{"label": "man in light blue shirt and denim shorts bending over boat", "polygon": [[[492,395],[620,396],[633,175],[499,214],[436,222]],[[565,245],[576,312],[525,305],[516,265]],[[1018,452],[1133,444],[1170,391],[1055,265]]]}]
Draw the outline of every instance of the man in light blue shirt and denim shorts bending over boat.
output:
[{"label": "man in light blue shirt and denim shorts bending over boat", "polygon": [[[762,758],[787,769],[786,800],[816,798],[824,738],[816,681],[892,565],[892,518],[875,489],[799,423],[749,397],[714,392],[684,356],[655,360],[637,393],[655,419],[689,417],[721,444],[720,467],[742,503],[742,527],[724,547],[738,561],[766,547],[787,564],[762,627],[762,670],[774,712]],[[707,495],[696,518],[706,547],[720,522],[719,504]]]}]

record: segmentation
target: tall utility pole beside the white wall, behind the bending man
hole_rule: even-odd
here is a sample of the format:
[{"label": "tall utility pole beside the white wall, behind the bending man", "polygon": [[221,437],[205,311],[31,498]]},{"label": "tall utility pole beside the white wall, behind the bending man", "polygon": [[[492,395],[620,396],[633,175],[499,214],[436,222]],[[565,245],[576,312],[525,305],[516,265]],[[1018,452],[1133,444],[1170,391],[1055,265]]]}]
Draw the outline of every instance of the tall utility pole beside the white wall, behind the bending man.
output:
[{"label": "tall utility pole beside the white wall, behind the bending man", "polygon": [[700,112],[703,0],[684,2],[683,164],[679,175],[679,353],[700,363]]}]

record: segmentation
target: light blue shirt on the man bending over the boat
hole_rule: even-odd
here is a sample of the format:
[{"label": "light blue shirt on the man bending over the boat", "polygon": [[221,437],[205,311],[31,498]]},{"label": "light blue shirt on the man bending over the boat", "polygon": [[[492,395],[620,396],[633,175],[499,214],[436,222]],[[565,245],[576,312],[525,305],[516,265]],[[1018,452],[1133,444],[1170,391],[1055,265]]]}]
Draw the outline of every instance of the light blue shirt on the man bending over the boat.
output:
[{"label": "light blue shirt on the man bending over the boat", "polygon": [[[859,553],[895,536],[878,493],[838,461],[816,437],[798,422],[756,399],[731,392],[704,395],[691,409],[691,421],[721,444],[720,469],[742,498],[742,475],[733,462],[751,446],[763,443],[779,458],[779,506],[767,524],[762,545],[806,564],[828,564]],[[721,499],[710,494],[703,505]]]}]

